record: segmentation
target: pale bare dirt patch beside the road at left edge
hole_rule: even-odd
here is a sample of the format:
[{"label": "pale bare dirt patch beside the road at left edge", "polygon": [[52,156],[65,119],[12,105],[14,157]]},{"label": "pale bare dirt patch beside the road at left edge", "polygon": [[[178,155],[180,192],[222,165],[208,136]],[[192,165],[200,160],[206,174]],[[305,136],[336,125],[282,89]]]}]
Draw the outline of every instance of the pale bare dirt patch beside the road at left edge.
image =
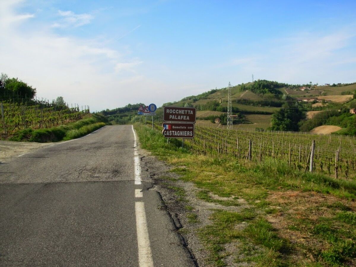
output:
[{"label": "pale bare dirt patch beside the road at left edge", "polygon": [[17,158],[21,154],[26,154],[37,150],[42,147],[46,147],[48,143],[35,143],[35,142],[12,142],[0,140],[0,161],[5,159]]}]

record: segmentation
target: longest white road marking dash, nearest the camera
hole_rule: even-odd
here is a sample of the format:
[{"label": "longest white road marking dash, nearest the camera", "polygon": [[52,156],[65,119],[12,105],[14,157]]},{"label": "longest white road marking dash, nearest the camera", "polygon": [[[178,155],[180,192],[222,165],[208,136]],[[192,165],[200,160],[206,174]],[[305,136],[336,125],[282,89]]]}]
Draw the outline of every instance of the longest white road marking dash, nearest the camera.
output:
[{"label": "longest white road marking dash, nearest the camera", "polygon": [[136,232],[138,245],[138,266],[153,267],[150,238],[145,213],[145,204],[141,201],[135,202]]}]

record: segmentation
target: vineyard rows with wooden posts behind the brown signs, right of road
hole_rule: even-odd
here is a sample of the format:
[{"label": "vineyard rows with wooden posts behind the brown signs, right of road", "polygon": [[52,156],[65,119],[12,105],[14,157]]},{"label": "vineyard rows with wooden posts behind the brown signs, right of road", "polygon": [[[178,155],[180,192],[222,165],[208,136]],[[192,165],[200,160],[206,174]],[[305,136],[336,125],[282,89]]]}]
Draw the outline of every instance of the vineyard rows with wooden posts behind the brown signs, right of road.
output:
[{"label": "vineyard rows with wooden posts behind the brown signs, right of road", "polygon": [[[156,128],[162,129],[159,123]],[[313,171],[337,178],[355,178],[356,138],[351,136],[226,130],[195,125],[194,139],[185,139],[184,145],[199,155],[230,155],[241,164],[276,159],[286,162],[292,169],[309,171],[313,140]]]}]

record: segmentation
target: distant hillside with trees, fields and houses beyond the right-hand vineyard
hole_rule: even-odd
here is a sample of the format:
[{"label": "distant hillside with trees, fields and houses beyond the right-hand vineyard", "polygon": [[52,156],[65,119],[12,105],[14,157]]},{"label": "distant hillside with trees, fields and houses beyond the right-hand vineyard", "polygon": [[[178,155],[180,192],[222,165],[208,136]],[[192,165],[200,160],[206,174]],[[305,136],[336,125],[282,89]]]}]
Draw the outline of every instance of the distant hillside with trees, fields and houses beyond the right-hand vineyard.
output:
[{"label": "distant hillside with trees, fields and houses beyond the right-hand vineyard", "polygon": [[[209,122],[213,127],[220,127],[226,125],[227,92],[227,87],[215,88],[163,106],[195,107],[198,124],[208,125]],[[337,132],[339,134],[354,134],[354,116],[349,110],[356,108],[356,83],[319,86],[312,82],[288,84],[258,79],[232,86],[231,95],[233,124],[237,127],[309,132],[330,124],[343,128]],[[326,100],[328,97],[335,100]],[[131,123],[139,119],[137,109],[140,104],[128,104],[102,113],[112,123]],[[307,119],[308,111],[325,112]],[[211,113],[206,115],[207,112]],[[155,119],[162,120],[161,115],[162,110],[158,108]]]}]

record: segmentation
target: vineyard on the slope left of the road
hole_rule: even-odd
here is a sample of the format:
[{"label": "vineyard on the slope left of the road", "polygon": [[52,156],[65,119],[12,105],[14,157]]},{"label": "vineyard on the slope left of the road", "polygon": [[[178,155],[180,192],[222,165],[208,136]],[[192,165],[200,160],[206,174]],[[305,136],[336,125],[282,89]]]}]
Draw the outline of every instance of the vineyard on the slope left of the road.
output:
[{"label": "vineyard on the slope left of the road", "polygon": [[[79,120],[89,113],[89,108],[83,111],[79,107],[55,106],[49,103],[37,103],[27,106],[24,103],[3,103],[4,120],[7,133],[26,128],[48,128]],[[3,125],[0,131],[5,132]]]}]

